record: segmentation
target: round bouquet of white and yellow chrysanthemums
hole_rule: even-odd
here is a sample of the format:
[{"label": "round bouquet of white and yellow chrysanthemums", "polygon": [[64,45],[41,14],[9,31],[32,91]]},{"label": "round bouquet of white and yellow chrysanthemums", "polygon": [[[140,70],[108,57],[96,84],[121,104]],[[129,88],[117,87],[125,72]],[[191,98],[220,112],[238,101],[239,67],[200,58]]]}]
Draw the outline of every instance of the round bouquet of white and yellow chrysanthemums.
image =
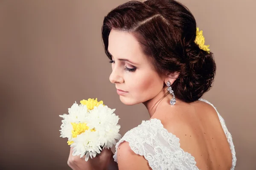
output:
[{"label": "round bouquet of white and yellow chrysanthemums", "polygon": [[121,138],[120,125],[117,125],[119,117],[113,113],[116,109],[108,108],[97,98],[83,99],[80,103],[75,102],[68,108],[69,114],[59,115],[63,118],[60,137],[68,138],[73,156],[80,155],[81,158],[85,155],[85,161],[88,161],[89,156],[92,159]]}]

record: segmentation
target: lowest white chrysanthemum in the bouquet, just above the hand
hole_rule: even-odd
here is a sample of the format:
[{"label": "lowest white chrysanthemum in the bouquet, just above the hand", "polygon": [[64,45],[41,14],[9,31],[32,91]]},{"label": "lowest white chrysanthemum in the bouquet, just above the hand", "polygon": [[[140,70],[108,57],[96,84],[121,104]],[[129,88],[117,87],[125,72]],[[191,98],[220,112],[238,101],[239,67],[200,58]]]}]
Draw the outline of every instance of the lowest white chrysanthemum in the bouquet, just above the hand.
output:
[{"label": "lowest white chrysanthemum in the bouquet, just above the hand", "polygon": [[85,161],[89,159],[89,156],[95,157],[97,153],[101,152],[100,142],[99,142],[99,132],[86,130],[81,133],[76,138],[73,138],[73,156],[79,156],[80,158],[85,155]]}]

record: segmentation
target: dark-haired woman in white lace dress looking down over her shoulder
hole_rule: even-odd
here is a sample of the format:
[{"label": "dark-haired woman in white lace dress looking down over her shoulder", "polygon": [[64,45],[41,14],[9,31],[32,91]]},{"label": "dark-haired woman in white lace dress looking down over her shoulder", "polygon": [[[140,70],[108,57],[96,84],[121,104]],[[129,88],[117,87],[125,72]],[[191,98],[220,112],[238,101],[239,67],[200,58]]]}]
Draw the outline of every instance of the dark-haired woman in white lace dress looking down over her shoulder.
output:
[{"label": "dark-haired woman in white lace dress looking down over her shoulder", "polygon": [[[233,170],[236,153],[224,119],[201,96],[215,77],[195,18],[175,0],[130,1],[104,19],[102,38],[111,60],[110,81],[125,105],[143,103],[150,120],[73,169]],[[203,42],[204,43],[204,42]],[[113,157],[112,157],[113,156]],[[115,162],[118,161],[118,164]]]}]

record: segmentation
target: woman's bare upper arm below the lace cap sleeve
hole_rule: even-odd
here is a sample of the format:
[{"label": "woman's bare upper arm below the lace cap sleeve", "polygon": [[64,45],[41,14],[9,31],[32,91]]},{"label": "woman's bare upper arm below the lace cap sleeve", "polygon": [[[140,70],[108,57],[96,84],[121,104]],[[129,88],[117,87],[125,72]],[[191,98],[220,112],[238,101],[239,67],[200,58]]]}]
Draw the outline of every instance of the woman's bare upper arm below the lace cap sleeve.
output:
[{"label": "woman's bare upper arm below the lace cap sleeve", "polygon": [[126,141],[117,149],[117,160],[119,170],[151,170],[144,156],[134,153]]}]

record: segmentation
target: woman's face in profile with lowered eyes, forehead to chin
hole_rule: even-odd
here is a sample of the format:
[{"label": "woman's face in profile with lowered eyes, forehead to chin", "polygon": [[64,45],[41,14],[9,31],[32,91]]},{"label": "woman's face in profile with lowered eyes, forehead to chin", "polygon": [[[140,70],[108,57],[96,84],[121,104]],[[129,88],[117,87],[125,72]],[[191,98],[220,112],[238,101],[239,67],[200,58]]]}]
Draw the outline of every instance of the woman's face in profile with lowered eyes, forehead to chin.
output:
[{"label": "woman's face in profile with lowered eyes, forehead to chin", "polygon": [[112,29],[108,41],[112,55],[109,79],[121,91],[117,91],[121,102],[135,105],[157,96],[163,89],[164,77],[155,70],[152,58],[143,54],[136,38]]}]

